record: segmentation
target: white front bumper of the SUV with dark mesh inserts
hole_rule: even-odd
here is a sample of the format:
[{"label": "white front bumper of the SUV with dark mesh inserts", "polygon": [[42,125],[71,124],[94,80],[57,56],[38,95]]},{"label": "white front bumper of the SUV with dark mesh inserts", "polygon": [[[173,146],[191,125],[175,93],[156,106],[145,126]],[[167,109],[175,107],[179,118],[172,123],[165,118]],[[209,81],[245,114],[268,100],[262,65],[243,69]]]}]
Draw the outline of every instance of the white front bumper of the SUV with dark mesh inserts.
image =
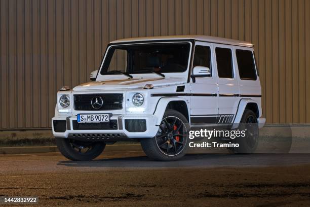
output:
[{"label": "white front bumper of the SUV with dark mesh inserts", "polygon": [[[55,129],[54,121],[65,123],[65,128],[61,130]],[[127,121],[126,121],[127,120]],[[128,124],[128,120],[135,120]],[[141,123],[138,120],[145,120],[142,123],[146,128],[142,131],[132,130],[135,123]],[[159,126],[156,126],[157,117],[154,115],[112,115],[110,121],[117,123],[114,128],[106,129],[76,129],[76,116],[75,117],[54,117],[52,118],[52,129],[55,137],[72,138],[72,139],[85,139],[85,140],[126,140],[134,138],[150,138],[156,135]],[[126,122],[126,124],[125,124]],[[137,126],[139,128],[139,126]],[[141,127],[140,127],[141,128]]]}]

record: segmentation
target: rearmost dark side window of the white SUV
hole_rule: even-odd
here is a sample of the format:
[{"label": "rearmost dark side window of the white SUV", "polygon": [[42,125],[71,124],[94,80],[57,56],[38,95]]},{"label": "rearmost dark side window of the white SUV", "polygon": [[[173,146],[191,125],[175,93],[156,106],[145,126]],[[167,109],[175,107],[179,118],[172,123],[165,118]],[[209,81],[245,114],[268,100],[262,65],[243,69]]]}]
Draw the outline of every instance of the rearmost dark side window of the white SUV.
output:
[{"label": "rearmost dark side window of the white SUV", "polygon": [[256,80],[255,62],[252,51],[236,50],[239,76],[242,80]]}]

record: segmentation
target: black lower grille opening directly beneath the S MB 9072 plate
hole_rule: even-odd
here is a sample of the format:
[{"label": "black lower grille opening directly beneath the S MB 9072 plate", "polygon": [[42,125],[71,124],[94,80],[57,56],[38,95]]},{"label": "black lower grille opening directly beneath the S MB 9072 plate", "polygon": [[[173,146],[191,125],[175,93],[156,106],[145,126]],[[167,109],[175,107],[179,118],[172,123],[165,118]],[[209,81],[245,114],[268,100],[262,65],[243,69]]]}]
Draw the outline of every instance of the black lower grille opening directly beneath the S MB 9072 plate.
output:
[{"label": "black lower grille opening directly beneath the S MB 9072 plate", "polygon": [[110,120],[110,122],[78,123],[78,121],[72,120],[72,126],[74,130],[116,130],[118,129],[118,121]]}]

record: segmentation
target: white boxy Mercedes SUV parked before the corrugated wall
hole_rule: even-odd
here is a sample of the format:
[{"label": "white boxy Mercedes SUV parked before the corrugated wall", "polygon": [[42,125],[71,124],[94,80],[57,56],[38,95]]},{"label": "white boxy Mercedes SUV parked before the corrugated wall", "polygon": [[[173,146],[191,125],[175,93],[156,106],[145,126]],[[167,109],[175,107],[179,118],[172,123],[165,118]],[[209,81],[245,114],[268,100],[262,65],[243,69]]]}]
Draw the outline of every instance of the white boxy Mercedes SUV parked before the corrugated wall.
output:
[{"label": "white boxy Mercedes SUV parked before the corrugated wall", "polygon": [[[132,140],[152,159],[176,160],[186,153],[191,126],[265,123],[247,42],[208,36],[117,40],[91,80],[57,94],[53,134],[71,160],[91,160],[106,144]],[[257,140],[239,141],[245,143],[240,150],[253,152]]]}]

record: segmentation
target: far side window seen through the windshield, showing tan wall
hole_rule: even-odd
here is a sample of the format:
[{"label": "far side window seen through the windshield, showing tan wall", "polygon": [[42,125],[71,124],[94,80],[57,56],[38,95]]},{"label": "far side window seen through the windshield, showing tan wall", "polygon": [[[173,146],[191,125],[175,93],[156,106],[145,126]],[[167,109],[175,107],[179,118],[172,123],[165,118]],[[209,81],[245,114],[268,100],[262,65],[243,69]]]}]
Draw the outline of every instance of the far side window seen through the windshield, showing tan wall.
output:
[{"label": "far side window seen through the windshield, showing tan wall", "polygon": [[127,67],[127,50],[115,49],[107,71],[126,72],[126,67]]}]

